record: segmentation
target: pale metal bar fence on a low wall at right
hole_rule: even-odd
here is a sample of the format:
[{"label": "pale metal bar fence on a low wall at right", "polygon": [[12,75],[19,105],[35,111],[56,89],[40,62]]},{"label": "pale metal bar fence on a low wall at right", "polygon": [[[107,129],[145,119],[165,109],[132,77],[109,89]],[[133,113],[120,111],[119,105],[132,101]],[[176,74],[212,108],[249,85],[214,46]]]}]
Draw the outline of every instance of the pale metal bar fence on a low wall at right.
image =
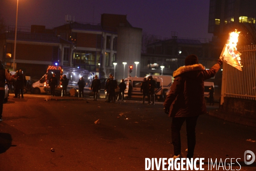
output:
[{"label": "pale metal bar fence on a low wall at right", "polygon": [[256,45],[239,46],[242,71],[224,63],[222,72],[221,104],[224,97],[256,100]]}]

